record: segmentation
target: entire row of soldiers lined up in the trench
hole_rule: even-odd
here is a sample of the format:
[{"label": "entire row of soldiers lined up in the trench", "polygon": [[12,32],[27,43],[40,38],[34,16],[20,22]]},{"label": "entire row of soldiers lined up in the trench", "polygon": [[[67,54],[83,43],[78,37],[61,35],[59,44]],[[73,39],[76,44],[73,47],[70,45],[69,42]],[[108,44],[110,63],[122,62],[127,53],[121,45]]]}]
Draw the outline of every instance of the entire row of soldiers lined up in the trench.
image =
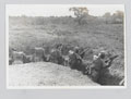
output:
[{"label": "entire row of soldiers lined up in the trench", "polygon": [[34,53],[32,55],[26,55],[22,51],[16,51],[12,49],[11,57],[9,58],[9,64],[20,64],[29,62],[52,62],[61,64],[64,66],[70,66],[73,70],[81,71],[83,74],[88,75],[94,82],[98,82],[102,75],[102,71],[108,69],[114,59],[118,55],[114,55],[105,60],[106,52],[100,51],[97,55],[93,55],[92,62],[84,60],[84,55],[87,48],[81,49],[80,47],[74,47],[68,51],[67,55],[63,55],[61,49],[63,45],[58,45],[56,48],[51,49],[49,54],[45,53],[45,49],[41,47],[34,48]]}]

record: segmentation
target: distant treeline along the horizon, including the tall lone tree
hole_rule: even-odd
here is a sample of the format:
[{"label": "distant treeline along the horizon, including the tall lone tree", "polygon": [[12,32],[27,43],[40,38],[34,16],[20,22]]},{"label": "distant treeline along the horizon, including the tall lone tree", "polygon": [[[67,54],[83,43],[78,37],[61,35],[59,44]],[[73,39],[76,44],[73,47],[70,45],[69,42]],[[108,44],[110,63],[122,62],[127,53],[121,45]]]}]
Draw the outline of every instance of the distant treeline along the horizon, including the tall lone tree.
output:
[{"label": "distant treeline along the horizon, including the tall lone tree", "polygon": [[[122,11],[117,11],[114,14],[110,14],[109,12],[105,13],[103,16],[93,16],[88,14],[88,10],[78,8],[71,11],[74,12],[74,16],[9,16],[10,24],[24,24],[24,25],[47,25],[47,24],[79,24],[79,25],[85,25],[85,24],[123,24],[124,21],[124,14]],[[78,12],[76,12],[76,11]],[[86,12],[85,12],[86,10]],[[80,13],[81,11],[81,13]]]}]

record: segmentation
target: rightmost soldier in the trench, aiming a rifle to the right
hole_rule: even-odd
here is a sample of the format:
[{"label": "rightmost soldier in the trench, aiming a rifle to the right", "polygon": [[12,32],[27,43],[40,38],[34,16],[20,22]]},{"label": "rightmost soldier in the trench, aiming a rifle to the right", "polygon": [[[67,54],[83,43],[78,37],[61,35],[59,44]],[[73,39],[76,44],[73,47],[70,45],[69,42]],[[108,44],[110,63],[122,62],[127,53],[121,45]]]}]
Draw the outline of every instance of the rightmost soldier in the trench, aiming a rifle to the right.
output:
[{"label": "rightmost soldier in the trench, aiming a rifle to the right", "polygon": [[91,65],[91,73],[88,74],[90,77],[98,83],[100,75],[104,69],[107,69],[111,65],[112,60],[117,58],[117,55],[110,58],[109,60],[105,61],[106,52],[102,51],[98,57],[95,55],[95,60]]}]

